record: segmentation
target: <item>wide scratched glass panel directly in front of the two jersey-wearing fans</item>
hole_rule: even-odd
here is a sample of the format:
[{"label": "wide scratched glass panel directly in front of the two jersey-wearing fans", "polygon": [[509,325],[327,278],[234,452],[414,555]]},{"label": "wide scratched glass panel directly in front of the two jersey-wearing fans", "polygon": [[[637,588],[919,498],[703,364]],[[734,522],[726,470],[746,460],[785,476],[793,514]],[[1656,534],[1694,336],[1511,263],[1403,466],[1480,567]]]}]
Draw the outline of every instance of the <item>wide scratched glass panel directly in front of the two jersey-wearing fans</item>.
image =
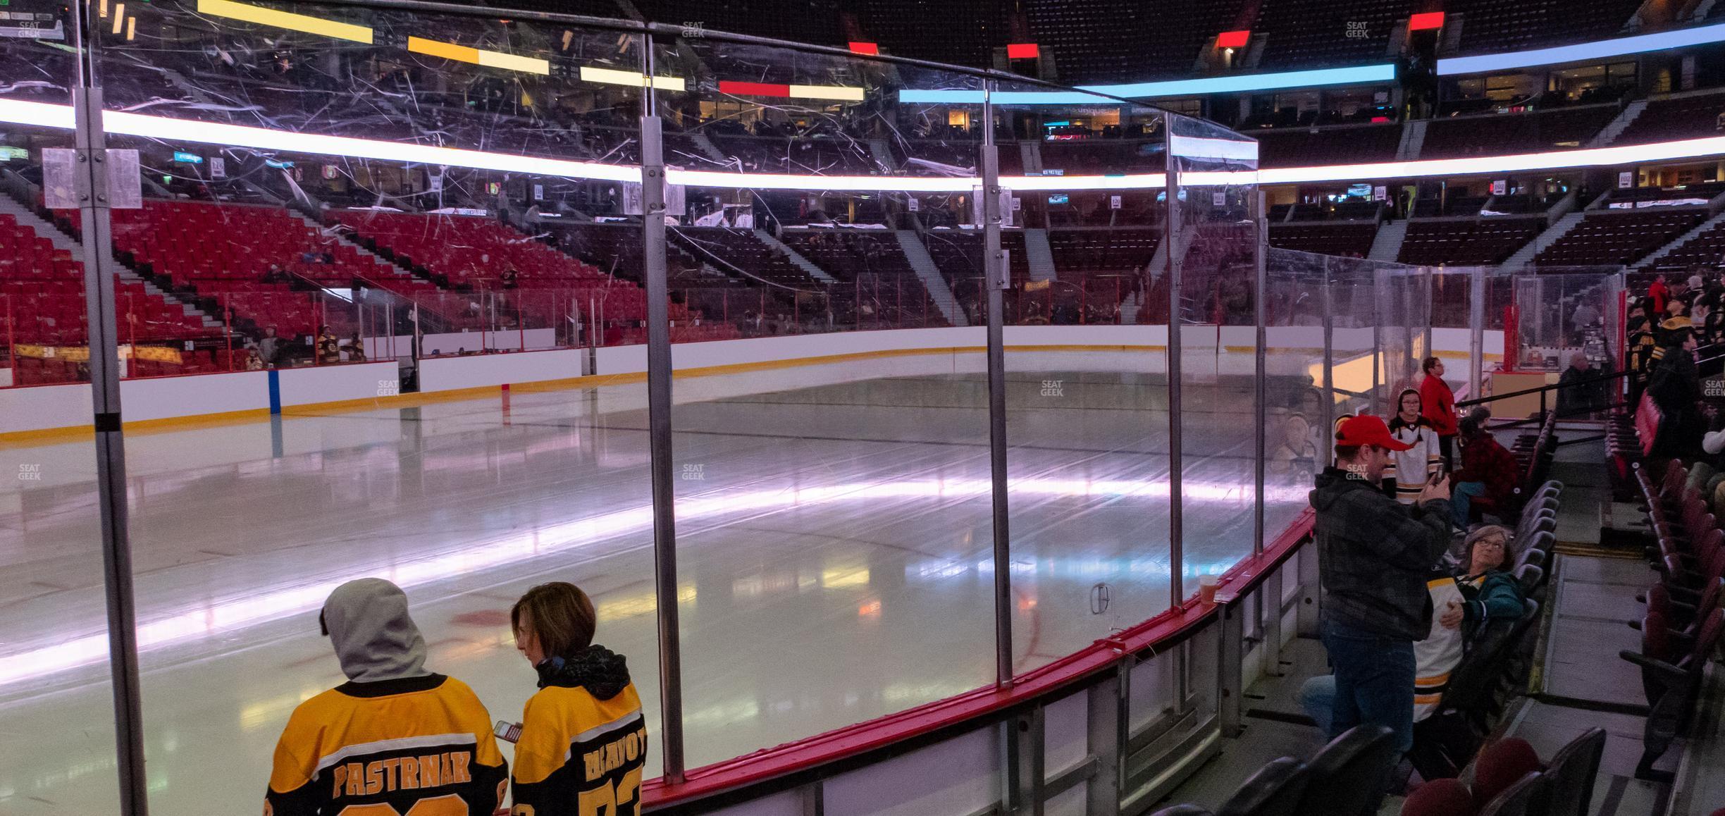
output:
[{"label": "wide scratched glass panel directly in front of the two jersey-wearing fans", "polygon": [[[143,293],[121,340],[143,376],[231,371],[126,393],[129,419],[181,416],[160,393],[188,388],[205,412],[128,433],[152,806],[259,807],[288,716],[361,671],[317,625],[355,578],[398,585],[424,668],[486,707],[466,711],[473,775],[535,694],[509,609],[549,580],[590,595],[656,730],[643,386],[574,380],[595,357],[571,350],[595,302],[640,330],[618,273],[640,243],[600,266],[542,226],[638,178],[640,38],[342,3],[90,9],[124,110],[110,147],[143,183],[114,216]],[[274,792],[307,773],[276,768]]]}]

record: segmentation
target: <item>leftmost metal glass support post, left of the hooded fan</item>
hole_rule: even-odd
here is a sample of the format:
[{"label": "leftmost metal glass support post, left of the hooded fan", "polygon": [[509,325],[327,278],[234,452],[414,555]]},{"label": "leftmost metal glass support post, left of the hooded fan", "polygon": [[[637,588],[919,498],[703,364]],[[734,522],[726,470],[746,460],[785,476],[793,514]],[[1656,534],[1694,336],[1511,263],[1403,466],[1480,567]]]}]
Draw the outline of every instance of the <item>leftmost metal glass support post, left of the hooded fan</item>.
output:
[{"label": "leftmost metal glass support post, left of the hooded fan", "polygon": [[[85,312],[90,390],[97,433],[97,514],[102,519],[102,580],[107,590],[109,675],[114,683],[114,756],[121,816],[147,816],[143,775],[143,687],[138,680],[138,616],[131,585],[126,505],[126,442],[119,405],[119,328],[114,305],[114,235],[109,221],[107,140],[97,88],[97,38],[88,3],[71,3],[78,86],[72,88],[74,185],[83,223]],[[90,26],[86,31],[86,24]]]}]

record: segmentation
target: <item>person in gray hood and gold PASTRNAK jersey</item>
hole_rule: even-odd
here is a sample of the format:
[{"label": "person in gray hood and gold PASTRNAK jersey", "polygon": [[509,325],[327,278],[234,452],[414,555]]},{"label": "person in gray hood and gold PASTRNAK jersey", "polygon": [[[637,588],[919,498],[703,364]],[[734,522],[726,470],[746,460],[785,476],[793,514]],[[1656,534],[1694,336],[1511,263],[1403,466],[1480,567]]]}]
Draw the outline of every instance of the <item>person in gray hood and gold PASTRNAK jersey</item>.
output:
[{"label": "person in gray hood and gold PASTRNAK jersey", "polygon": [[492,816],[509,785],[492,716],[466,683],[424,668],[426,642],[400,587],[347,581],[319,623],[348,681],[288,716],[264,814],[414,813],[438,800],[440,814]]}]

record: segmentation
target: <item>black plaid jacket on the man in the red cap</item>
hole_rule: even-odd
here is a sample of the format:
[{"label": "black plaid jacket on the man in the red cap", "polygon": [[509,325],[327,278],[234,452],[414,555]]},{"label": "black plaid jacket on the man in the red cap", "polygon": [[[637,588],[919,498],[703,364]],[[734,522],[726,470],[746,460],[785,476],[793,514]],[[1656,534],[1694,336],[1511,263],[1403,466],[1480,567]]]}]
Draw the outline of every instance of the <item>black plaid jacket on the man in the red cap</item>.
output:
[{"label": "black plaid jacket on the man in the red cap", "polygon": [[1449,502],[1404,505],[1363,478],[1325,468],[1311,492],[1318,511],[1323,619],[1394,640],[1425,640],[1432,595],[1425,580],[1449,547]]}]

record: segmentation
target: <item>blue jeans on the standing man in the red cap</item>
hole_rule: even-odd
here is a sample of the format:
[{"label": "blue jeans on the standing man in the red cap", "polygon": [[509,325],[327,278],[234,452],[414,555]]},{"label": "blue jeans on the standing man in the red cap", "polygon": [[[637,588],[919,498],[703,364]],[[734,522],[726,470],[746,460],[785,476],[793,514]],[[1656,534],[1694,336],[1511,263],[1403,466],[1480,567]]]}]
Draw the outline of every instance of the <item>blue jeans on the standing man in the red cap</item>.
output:
[{"label": "blue jeans on the standing man in the red cap", "polygon": [[1397,750],[1413,747],[1413,640],[1397,640],[1323,621],[1323,647],[1335,668],[1330,738],[1361,723],[1396,731]]}]

